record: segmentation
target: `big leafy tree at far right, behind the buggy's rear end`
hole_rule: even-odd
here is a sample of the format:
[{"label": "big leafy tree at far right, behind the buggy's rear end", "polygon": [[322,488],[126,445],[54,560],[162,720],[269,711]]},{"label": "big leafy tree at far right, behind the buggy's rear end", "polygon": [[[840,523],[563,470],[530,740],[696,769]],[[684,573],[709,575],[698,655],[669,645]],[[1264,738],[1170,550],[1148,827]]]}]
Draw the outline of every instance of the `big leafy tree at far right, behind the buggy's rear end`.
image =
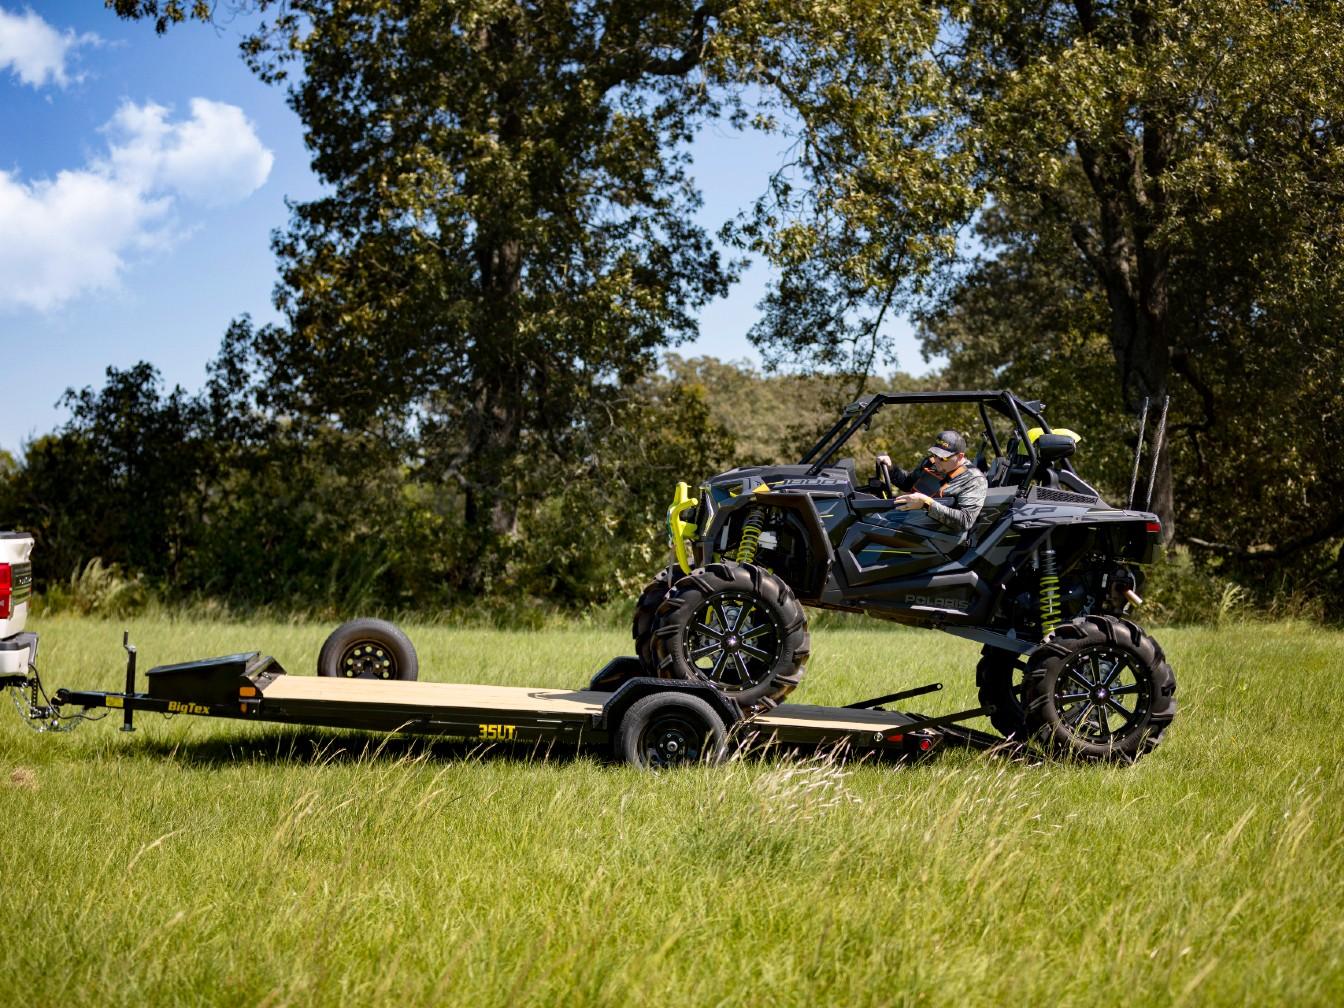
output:
[{"label": "big leafy tree at far right, behind the buggy's rear end", "polygon": [[1050,12],[966,22],[995,202],[929,347],[1094,423],[1117,489],[1137,398],[1171,394],[1168,524],[1261,577],[1337,577],[1344,7]]}]

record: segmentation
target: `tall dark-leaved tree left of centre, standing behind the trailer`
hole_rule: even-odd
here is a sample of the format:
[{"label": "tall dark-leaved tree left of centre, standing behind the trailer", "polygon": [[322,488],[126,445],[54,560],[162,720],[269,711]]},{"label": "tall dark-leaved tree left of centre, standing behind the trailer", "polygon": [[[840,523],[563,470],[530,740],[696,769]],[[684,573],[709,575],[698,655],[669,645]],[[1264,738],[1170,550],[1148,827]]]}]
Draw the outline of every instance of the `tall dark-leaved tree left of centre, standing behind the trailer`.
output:
[{"label": "tall dark-leaved tree left of centre, standing behind the trailer", "polygon": [[[269,406],[414,441],[484,544],[731,271],[681,148],[715,5],[290,4],[250,42],[331,195],[277,239]],[[468,564],[466,570],[470,570]]]}]

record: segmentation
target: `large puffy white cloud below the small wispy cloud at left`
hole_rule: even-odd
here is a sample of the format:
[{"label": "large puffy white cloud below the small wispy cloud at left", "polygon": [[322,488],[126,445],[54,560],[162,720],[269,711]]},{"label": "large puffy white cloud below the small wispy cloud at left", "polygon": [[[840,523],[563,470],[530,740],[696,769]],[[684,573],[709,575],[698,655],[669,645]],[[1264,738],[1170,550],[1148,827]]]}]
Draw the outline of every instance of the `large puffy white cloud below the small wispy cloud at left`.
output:
[{"label": "large puffy white cloud below the small wispy cloud at left", "polygon": [[179,122],[128,102],[105,132],[106,157],[55,179],[0,169],[0,309],[114,288],[128,255],[171,243],[180,203],[239,202],[274,161],[241,109],[204,98]]}]

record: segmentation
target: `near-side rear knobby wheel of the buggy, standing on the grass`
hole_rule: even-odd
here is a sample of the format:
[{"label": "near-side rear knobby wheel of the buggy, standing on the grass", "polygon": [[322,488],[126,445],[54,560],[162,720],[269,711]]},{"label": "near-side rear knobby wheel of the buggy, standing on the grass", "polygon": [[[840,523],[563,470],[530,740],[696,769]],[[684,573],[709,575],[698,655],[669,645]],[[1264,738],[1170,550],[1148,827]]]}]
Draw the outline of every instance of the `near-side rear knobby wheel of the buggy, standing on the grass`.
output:
[{"label": "near-side rear knobby wheel of the buggy, standing on the grass", "polygon": [[1176,716],[1176,676],[1136,624],[1085,616],[1031,653],[1025,700],[1027,731],[1046,751],[1132,762]]}]

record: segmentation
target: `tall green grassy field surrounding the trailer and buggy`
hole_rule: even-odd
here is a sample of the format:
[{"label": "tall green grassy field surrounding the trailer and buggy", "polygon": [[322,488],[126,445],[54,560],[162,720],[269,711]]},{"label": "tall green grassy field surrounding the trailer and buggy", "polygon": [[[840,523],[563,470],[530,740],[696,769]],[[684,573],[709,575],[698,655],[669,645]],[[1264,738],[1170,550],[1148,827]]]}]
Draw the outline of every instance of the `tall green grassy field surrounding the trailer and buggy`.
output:
[{"label": "tall green grassy field surrounding the trailer and buggy", "polygon": [[[120,624],[52,617],[48,687],[116,689]],[[329,628],[132,622],[142,667]],[[407,628],[422,679],[577,687],[622,634]],[[1160,632],[1180,712],[1133,767],[593,757],[144,715],[0,718],[12,1005],[1344,1003],[1344,633]],[[976,648],[818,633],[794,699]]]}]

